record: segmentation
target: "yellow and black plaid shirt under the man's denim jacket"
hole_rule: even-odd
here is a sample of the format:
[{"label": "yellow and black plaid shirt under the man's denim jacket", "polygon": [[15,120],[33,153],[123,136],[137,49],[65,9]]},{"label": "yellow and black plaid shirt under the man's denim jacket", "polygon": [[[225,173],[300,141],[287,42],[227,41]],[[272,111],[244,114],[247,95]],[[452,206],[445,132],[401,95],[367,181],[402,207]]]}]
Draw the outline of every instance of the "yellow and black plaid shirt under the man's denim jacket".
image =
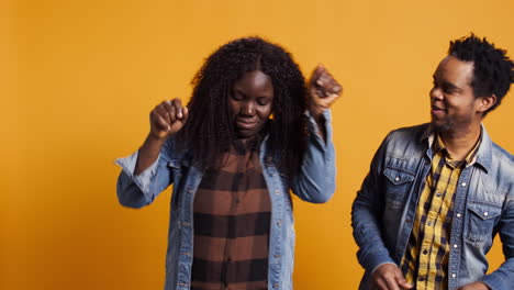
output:
[{"label": "yellow and black plaid shirt under the man's denim jacket", "polygon": [[448,255],[456,185],[463,166],[471,165],[480,142],[465,161],[451,159],[438,135],[431,172],[417,203],[415,222],[401,269],[416,290],[448,288]]}]

